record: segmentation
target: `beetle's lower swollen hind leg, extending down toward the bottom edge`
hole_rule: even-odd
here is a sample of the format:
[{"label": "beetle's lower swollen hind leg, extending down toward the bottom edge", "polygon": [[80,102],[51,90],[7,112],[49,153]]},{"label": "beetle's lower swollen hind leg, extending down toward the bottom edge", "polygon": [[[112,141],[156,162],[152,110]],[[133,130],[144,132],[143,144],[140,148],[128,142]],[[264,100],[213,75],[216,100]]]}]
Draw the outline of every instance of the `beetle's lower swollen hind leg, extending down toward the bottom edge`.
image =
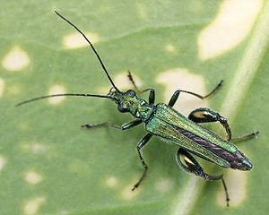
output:
[{"label": "beetle's lower swollen hind leg, extending down toward the bottom edge", "polygon": [[204,169],[195,160],[195,158],[192,157],[191,154],[187,152],[187,150],[184,150],[182,148],[178,149],[176,159],[178,162],[178,166],[189,173],[203,177],[205,180],[221,180],[226,195],[227,206],[229,206],[230,197],[222,175],[211,176],[205,173]]}]

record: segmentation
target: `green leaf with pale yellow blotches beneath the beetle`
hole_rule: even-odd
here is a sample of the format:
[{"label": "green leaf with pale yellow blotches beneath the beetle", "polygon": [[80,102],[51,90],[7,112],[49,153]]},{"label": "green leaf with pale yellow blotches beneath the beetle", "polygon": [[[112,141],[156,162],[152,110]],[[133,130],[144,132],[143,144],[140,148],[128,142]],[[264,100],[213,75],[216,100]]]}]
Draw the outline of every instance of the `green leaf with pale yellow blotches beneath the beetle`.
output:
[{"label": "green leaf with pale yellow blotches beneath the beetle", "polygon": [[[1,1],[0,213],[266,214],[269,4],[241,2]],[[187,114],[213,107],[228,117],[233,136],[259,130],[256,140],[239,145],[254,168],[224,171],[230,208],[221,182],[183,172],[177,147],[157,138],[143,149],[148,175],[131,192],[143,173],[135,150],[143,126],[81,128],[131,121],[113,102],[65,98],[14,107],[51,91],[105,94],[111,87],[91,49],[83,39],[74,43],[82,37],[55,10],[94,41],[120,89],[132,87],[127,70],[142,89],[156,89],[157,102],[178,88],[205,94],[224,80],[212,99],[180,95],[175,108]]]}]

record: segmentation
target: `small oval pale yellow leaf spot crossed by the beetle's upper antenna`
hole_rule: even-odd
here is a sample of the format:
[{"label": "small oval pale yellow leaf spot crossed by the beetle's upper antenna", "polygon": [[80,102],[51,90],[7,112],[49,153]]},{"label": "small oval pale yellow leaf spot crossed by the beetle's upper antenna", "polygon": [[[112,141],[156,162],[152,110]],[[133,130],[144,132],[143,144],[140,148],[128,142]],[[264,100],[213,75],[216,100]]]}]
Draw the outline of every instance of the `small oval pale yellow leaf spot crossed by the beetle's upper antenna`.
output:
[{"label": "small oval pale yellow leaf spot crossed by the beetle's upper antenna", "polygon": [[[100,41],[100,37],[97,33],[88,32],[85,33],[85,35],[91,41],[92,44]],[[66,48],[71,49],[90,46],[80,33],[73,33],[65,36],[63,43]]]}]

